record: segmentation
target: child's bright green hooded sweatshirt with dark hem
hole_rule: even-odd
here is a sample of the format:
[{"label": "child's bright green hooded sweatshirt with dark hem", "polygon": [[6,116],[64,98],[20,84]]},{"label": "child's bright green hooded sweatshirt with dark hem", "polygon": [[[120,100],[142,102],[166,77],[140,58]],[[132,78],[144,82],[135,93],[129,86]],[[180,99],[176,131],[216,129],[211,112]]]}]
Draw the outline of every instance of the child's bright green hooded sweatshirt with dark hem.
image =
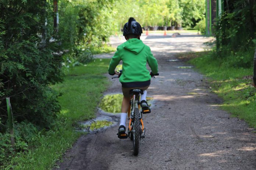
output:
[{"label": "child's bright green hooded sweatshirt with dark hem", "polygon": [[[119,80],[123,87],[129,87],[130,85],[124,85],[129,82],[149,81],[150,84],[151,76],[146,67],[147,63],[153,74],[158,73],[157,60],[151,53],[150,48],[137,38],[129,39],[117,47],[117,51],[109,64],[109,74],[115,74],[115,67],[119,64],[120,60],[123,63],[122,75]],[[130,87],[133,86],[142,87],[138,86],[138,84],[131,85]]]}]

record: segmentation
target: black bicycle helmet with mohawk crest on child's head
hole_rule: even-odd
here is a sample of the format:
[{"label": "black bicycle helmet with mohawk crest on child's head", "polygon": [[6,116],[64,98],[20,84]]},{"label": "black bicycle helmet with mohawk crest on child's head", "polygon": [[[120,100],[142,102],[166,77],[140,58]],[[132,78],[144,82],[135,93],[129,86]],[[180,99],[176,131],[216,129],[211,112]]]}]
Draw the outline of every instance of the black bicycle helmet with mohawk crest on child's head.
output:
[{"label": "black bicycle helmet with mohawk crest on child's head", "polygon": [[127,36],[128,34],[141,36],[142,34],[141,25],[133,17],[130,17],[129,21],[125,23],[123,30],[123,36]]}]

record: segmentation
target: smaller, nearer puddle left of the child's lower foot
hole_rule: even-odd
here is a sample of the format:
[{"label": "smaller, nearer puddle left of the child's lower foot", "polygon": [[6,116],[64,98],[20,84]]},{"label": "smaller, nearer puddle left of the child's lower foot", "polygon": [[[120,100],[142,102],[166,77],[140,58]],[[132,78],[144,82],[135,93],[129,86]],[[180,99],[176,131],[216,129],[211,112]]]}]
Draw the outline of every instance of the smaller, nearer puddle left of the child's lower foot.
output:
[{"label": "smaller, nearer puddle left of the child's lower foot", "polygon": [[99,116],[95,119],[80,122],[78,131],[93,132],[100,129],[106,129],[107,127],[114,125],[114,121],[109,116]]}]

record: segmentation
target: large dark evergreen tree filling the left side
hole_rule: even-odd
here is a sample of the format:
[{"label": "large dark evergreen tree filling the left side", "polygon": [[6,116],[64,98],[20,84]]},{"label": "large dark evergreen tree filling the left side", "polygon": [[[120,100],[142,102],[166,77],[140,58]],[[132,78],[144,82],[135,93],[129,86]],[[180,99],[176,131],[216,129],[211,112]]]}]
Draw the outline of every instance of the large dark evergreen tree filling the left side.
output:
[{"label": "large dark evergreen tree filling the left side", "polygon": [[[48,85],[62,80],[60,47],[49,41],[55,38],[54,30],[45,25],[52,9],[45,0],[2,0],[0,11],[0,108],[5,110],[3,99],[11,97],[17,122],[50,127],[60,107]],[[7,117],[1,118],[5,123]],[[1,127],[3,132],[6,127]]]}]

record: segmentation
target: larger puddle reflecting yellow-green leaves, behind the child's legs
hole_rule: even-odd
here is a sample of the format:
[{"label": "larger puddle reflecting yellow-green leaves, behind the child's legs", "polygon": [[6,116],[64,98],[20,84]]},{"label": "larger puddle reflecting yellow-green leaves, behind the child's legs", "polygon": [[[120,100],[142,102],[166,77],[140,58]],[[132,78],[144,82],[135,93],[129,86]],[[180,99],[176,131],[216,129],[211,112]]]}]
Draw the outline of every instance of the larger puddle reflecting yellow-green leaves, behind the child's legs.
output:
[{"label": "larger puddle reflecting yellow-green leaves, behind the child's legs", "polygon": [[[122,94],[105,95],[100,102],[100,108],[105,112],[121,113]],[[151,106],[153,97],[147,97],[147,104]]]}]

